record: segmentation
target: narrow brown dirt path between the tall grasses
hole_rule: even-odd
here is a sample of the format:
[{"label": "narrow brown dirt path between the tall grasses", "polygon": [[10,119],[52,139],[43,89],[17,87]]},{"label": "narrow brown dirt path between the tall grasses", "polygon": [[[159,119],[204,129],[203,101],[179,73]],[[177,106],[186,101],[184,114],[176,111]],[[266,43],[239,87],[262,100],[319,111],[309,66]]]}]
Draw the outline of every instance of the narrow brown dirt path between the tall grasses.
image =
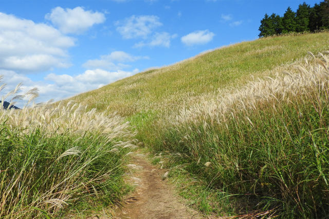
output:
[{"label": "narrow brown dirt path between the tall grasses", "polygon": [[160,170],[137,154],[129,165],[135,192],[125,200],[115,218],[204,218],[179,201],[178,195]]}]

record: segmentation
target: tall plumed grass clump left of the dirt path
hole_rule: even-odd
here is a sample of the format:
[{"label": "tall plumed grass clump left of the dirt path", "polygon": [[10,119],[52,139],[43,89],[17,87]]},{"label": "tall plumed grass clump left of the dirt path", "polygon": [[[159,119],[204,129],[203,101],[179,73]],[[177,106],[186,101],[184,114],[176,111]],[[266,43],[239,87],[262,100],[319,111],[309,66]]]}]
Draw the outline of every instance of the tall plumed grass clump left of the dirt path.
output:
[{"label": "tall plumed grass clump left of the dirt path", "polygon": [[81,201],[120,201],[134,135],[120,116],[72,102],[0,109],[0,218],[60,217]]}]

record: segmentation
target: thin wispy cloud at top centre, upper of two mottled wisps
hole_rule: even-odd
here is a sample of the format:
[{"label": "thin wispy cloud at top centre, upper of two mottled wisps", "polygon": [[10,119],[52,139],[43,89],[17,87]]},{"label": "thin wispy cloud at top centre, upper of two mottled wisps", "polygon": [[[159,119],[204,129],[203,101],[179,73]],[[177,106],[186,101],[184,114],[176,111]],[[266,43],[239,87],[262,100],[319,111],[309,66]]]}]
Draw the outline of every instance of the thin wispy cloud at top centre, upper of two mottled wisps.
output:
[{"label": "thin wispy cloud at top centre, upper of two mottled wisps", "polygon": [[159,22],[159,17],[155,15],[133,15],[124,21],[117,21],[115,25],[118,26],[117,31],[123,38],[130,39],[137,37],[146,38],[162,23]]}]

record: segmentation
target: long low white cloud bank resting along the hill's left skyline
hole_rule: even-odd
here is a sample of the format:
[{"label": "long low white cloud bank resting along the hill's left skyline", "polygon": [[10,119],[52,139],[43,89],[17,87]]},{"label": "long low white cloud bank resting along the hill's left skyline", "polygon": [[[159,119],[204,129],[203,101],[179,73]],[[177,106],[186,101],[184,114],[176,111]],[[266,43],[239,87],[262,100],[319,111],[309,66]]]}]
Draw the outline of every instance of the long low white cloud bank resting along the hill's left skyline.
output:
[{"label": "long low white cloud bank resting along the hill's left skyline", "polygon": [[[17,84],[23,82],[20,94],[36,87],[39,89],[39,97],[36,99],[36,102],[47,102],[50,99],[58,101],[78,93],[100,88],[118,79],[136,74],[137,72],[139,72],[138,69],[133,71],[105,71],[102,69],[94,69],[86,70],[84,73],[76,76],[51,73],[44,78],[46,81],[35,82],[27,76],[17,74],[14,71],[0,70],[0,75],[4,75],[3,81],[7,84],[7,87],[0,92],[0,98],[6,95],[10,90],[13,90]],[[0,82],[0,86],[1,85],[2,83]],[[10,99],[7,99],[7,101],[10,101]],[[17,106],[22,107],[23,104],[17,104]]]}]

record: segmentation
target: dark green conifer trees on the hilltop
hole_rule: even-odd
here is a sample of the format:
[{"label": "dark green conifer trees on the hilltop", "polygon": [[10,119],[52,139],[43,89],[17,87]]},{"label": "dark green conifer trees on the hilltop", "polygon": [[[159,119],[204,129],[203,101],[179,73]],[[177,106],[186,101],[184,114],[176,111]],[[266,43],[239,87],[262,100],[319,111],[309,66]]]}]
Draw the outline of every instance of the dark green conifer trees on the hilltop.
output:
[{"label": "dark green conifer trees on the hilltop", "polygon": [[316,32],[329,29],[329,0],[310,7],[305,2],[298,6],[296,12],[287,8],[283,17],[272,13],[265,14],[259,27],[259,37],[289,32]]}]

